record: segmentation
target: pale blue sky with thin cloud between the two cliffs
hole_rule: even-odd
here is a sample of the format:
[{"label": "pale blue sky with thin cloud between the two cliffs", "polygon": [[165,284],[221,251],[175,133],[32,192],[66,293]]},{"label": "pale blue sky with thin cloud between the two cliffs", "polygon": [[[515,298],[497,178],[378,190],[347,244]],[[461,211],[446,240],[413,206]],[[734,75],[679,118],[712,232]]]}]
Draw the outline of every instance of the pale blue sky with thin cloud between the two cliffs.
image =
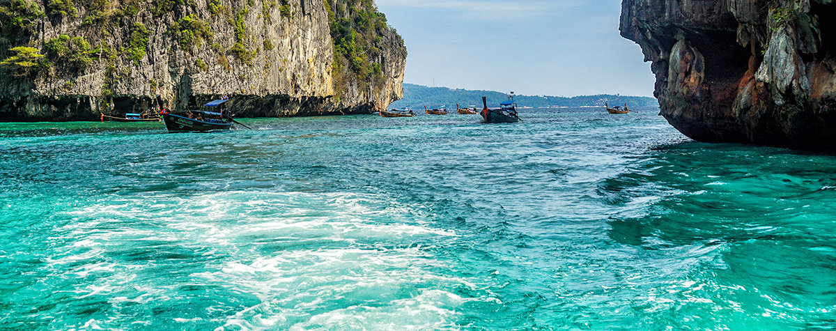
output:
[{"label": "pale blue sky with thin cloud between the two cliffs", "polygon": [[405,83],[525,95],[653,96],[621,0],[376,0],[404,38]]}]

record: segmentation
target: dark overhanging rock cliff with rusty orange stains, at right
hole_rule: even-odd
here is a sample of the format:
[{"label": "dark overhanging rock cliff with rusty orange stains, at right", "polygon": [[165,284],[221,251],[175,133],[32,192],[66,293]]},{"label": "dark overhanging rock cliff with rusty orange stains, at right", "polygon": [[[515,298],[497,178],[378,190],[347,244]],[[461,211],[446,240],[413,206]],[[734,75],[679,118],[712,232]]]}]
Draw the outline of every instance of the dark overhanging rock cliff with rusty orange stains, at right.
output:
[{"label": "dark overhanging rock cliff with rusty orange stains, at right", "polygon": [[836,1],[624,0],[671,125],[695,140],[836,151]]}]

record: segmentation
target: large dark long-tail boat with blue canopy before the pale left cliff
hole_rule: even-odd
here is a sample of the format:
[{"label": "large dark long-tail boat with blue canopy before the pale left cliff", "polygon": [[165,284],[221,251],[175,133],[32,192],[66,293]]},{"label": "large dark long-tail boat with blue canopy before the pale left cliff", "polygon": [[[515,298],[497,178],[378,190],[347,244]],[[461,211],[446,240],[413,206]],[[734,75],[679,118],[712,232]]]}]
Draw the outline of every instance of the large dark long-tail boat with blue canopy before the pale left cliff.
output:
[{"label": "large dark long-tail boat with blue canopy before the pale left cliff", "polygon": [[189,131],[214,131],[214,130],[229,130],[232,128],[232,118],[230,118],[226,109],[222,104],[227,102],[227,99],[220,99],[204,104],[204,109],[217,109],[217,111],[209,110],[186,110],[185,112],[171,114],[166,110],[161,111],[163,123],[166,124],[166,129],[169,132],[189,132]]}]

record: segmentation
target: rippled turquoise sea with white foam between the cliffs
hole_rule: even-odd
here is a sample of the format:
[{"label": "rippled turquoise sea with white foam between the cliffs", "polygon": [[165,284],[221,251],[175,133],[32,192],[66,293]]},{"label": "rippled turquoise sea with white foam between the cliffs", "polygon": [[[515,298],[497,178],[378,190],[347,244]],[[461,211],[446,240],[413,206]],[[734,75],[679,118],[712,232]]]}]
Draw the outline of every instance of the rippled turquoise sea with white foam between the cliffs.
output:
[{"label": "rippled turquoise sea with white foam between the cliffs", "polygon": [[0,328],[836,328],[836,158],[602,112],[0,124]]}]

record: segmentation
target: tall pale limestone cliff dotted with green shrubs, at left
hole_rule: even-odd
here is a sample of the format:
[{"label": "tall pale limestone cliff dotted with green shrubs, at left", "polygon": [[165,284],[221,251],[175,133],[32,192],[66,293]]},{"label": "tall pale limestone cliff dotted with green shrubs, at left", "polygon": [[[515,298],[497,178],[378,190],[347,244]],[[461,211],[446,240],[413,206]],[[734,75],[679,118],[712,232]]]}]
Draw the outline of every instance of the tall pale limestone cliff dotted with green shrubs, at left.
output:
[{"label": "tall pale limestone cliff dotted with green shrubs, at left", "polygon": [[[360,114],[403,95],[406,48],[372,2],[3,0],[0,19],[5,121],[98,120],[222,95],[239,117]],[[19,46],[37,53],[15,63]]]}]

